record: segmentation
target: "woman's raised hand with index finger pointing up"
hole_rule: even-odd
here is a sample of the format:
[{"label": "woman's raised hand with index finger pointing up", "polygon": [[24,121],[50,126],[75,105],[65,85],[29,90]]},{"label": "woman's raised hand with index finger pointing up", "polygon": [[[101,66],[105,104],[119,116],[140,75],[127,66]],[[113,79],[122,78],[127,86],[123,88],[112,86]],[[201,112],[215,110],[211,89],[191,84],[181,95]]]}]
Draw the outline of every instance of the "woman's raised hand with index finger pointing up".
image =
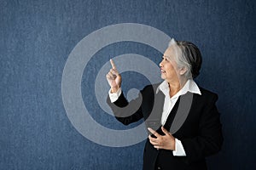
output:
[{"label": "woman's raised hand with index finger pointing up", "polygon": [[115,93],[119,90],[122,83],[122,77],[119,75],[119,71],[117,71],[116,66],[113,63],[113,59],[110,59],[110,63],[112,65],[112,68],[106,75],[108,84],[111,87],[111,92]]}]

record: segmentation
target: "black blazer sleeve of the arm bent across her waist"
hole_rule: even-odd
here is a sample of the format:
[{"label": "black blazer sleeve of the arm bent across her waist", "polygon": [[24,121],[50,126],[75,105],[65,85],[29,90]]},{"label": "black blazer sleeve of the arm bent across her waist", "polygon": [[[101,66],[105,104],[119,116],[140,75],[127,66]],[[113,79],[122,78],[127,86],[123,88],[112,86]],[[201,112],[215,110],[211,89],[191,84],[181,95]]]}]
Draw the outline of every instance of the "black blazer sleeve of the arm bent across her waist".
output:
[{"label": "black blazer sleeve of the arm bent across her waist", "polygon": [[201,114],[198,136],[181,140],[189,162],[217,153],[223,144],[222,125],[216,107],[218,95],[211,96]]}]

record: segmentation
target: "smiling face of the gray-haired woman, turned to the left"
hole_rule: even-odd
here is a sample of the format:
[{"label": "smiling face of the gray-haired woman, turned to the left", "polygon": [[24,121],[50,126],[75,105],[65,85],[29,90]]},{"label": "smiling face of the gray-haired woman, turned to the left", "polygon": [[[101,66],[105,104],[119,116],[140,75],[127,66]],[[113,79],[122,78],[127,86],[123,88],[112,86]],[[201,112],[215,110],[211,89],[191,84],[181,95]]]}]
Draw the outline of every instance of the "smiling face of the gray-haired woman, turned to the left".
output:
[{"label": "smiling face of the gray-haired woman, turned to the left", "polygon": [[161,78],[165,79],[167,82],[179,81],[179,72],[174,56],[175,51],[173,47],[169,47],[166,49],[162,61],[160,62]]}]

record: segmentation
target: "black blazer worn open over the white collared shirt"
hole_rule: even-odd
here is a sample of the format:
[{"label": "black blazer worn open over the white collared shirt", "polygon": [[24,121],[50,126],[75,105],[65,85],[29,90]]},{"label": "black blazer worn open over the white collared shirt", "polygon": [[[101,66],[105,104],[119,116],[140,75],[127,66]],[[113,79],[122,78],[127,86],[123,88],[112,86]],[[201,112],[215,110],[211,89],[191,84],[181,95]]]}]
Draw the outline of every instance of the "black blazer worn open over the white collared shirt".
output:
[{"label": "black blazer worn open over the white collared shirt", "polygon": [[[123,93],[114,103],[111,103],[108,97],[108,105],[119,122],[125,125],[143,118],[147,126],[160,127],[165,95],[161,91],[156,94],[156,88],[159,85],[160,83],[146,86],[139,97],[130,102],[125,99]],[[182,126],[178,128],[177,132],[172,133],[176,139],[181,140],[186,156],[173,156],[172,150],[156,150],[147,139],[143,154],[143,170],[154,170],[156,167],[168,170],[207,169],[205,157],[211,156],[221,149],[223,135],[219,113],[215,105],[218,95],[203,88],[200,90],[201,95],[193,94],[189,115]],[[168,116],[166,124],[172,125],[179,101],[180,99]],[[153,118],[151,117],[151,120],[148,121],[152,114]],[[166,124],[165,127],[170,130],[170,126],[166,126]],[[161,133],[160,129],[158,132]]]}]

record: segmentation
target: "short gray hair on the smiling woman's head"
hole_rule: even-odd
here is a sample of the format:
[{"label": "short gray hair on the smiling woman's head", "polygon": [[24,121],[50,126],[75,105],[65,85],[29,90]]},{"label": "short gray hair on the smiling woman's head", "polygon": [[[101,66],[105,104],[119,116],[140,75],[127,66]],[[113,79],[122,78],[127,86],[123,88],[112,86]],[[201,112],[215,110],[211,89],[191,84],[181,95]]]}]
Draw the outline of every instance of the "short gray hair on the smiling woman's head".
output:
[{"label": "short gray hair on the smiling woman's head", "polygon": [[195,78],[200,74],[201,52],[192,42],[176,41],[172,38],[169,47],[173,47],[176,56],[174,57],[178,68],[185,67],[187,71],[184,76],[187,79]]}]

